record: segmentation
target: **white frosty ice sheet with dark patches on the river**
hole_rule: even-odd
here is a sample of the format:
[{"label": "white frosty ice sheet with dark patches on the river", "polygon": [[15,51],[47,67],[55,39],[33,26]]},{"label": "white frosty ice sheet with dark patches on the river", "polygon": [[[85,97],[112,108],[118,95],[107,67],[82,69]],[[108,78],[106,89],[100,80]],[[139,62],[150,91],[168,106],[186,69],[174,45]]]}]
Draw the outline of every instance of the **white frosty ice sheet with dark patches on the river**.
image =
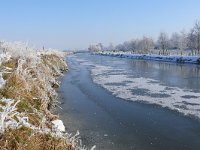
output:
[{"label": "white frosty ice sheet with dark patches on the river", "polygon": [[158,104],[200,118],[200,93],[190,89],[169,87],[151,78],[134,78],[126,73],[118,74],[117,69],[111,66],[97,65],[91,69],[91,74],[95,83],[116,97]]}]

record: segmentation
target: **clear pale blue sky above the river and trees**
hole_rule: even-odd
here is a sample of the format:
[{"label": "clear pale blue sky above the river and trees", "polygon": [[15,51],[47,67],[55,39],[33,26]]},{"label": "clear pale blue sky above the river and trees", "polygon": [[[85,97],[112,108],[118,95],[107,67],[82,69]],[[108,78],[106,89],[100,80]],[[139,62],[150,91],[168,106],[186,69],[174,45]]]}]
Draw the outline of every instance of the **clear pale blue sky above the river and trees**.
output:
[{"label": "clear pale blue sky above the river and trees", "polygon": [[0,0],[0,40],[84,49],[192,28],[200,0]]}]

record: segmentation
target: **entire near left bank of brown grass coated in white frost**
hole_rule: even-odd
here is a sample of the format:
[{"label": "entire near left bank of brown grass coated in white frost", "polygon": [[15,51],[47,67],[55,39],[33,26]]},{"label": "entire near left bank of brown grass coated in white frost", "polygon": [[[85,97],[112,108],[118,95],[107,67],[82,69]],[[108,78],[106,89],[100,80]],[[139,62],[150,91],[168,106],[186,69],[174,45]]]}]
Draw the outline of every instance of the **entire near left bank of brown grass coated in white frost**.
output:
[{"label": "entire near left bank of brown grass coated in white frost", "polygon": [[34,50],[26,43],[0,45],[0,147],[85,149],[79,135],[65,132],[49,109],[57,103],[57,77],[67,70],[64,54]]}]

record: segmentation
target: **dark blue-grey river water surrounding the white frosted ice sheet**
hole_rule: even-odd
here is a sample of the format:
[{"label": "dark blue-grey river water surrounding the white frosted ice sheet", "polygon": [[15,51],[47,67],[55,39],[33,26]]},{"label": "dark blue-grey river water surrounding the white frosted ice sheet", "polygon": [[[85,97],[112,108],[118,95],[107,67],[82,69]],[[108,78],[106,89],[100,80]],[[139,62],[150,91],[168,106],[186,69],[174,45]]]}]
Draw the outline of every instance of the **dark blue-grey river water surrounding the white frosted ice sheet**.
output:
[{"label": "dark blue-grey river water surrounding the white frosted ice sheet", "polygon": [[[170,87],[199,93],[200,67],[76,54],[59,89],[61,119],[68,132],[80,131],[83,144],[97,150],[199,150],[200,121],[156,104],[126,101],[93,82],[95,65],[122,68]],[[199,99],[200,100],[200,99]],[[200,110],[199,110],[200,111]]]}]

